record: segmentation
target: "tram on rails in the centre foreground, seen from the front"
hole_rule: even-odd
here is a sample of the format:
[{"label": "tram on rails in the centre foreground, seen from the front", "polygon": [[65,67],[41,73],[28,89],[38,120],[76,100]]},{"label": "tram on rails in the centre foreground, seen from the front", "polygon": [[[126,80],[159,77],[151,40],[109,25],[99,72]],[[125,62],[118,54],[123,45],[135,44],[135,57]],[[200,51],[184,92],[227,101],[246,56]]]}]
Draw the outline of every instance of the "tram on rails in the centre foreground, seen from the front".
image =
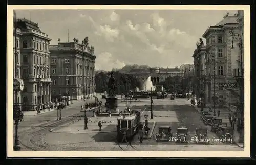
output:
[{"label": "tram on rails in the centre foreground, seen from the front", "polygon": [[133,135],[138,132],[140,123],[140,112],[131,111],[130,113],[123,113],[117,117],[117,141],[121,142],[123,137],[126,140],[131,140]]}]

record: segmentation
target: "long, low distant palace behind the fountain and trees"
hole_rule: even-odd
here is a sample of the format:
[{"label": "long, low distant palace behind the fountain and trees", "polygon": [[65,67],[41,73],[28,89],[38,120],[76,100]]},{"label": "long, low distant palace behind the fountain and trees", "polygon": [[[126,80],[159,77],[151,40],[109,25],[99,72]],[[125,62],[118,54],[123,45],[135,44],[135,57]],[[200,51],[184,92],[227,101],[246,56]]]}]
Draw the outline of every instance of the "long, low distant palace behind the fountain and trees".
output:
[{"label": "long, low distant palace behind the fountain and trees", "polygon": [[[159,82],[163,82],[169,76],[184,76],[184,72],[178,68],[161,69],[158,67],[149,69],[133,69],[130,72],[125,72],[125,74],[135,77],[140,82],[145,82],[150,76],[150,81],[153,83],[153,85],[157,85]],[[144,87],[140,87],[140,90],[143,89]]]}]

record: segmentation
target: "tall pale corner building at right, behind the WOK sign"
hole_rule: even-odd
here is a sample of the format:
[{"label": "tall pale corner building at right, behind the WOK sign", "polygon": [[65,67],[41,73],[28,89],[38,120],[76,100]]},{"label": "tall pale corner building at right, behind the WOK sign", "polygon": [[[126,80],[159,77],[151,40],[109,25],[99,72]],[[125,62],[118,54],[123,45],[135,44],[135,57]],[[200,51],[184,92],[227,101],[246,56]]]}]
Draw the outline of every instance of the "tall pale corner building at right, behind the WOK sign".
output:
[{"label": "tall pale corner building at right, behind the WOK sign", "polygon": [[233,53],[230,34],[231,29],[234,33],[239,32],[237,19],[238,14],[229,16],[227,13],[222,21],[210,26],[203,34],[206,39],[206,103],[212,103],[213,96],[218,99],[217,105],[229,106],[238,102],[238,86],[232,75],[232,68],[237,63],[237,55]]}]

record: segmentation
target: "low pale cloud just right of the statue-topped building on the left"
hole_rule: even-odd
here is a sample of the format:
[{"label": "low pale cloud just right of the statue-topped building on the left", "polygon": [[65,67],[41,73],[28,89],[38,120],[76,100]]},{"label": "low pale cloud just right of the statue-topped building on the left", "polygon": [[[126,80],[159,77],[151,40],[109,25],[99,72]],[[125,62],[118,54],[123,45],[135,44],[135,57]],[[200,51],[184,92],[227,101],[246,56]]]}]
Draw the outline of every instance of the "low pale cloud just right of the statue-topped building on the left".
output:
[{"label": "low pale cloud just right of the statue-topped building on the left", "polygon": [[98,54],[95,63],[95,69],[111,71],[113,68],[122,68],[125,66],[124,62],[114,58],[111,53],[103,52]]}]

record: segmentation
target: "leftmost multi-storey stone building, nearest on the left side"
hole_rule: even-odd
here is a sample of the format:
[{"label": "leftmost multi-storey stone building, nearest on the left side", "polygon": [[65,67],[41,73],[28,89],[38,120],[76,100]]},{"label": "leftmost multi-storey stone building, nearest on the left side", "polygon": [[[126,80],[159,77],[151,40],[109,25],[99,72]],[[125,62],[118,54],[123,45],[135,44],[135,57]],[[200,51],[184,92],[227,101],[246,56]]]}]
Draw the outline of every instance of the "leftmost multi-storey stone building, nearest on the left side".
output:
[{"label": "leftmost multi-storey stone building, nearest on the left side", "polygon": [[24,90],[21,92],[23,110],[35,110],[38,105],[51,101],[49,74],[49,36],[41,32],[38,23],[25,18],[17,19],[17,48],[20,52],[19,67],[15,75],[22,77]]}]

